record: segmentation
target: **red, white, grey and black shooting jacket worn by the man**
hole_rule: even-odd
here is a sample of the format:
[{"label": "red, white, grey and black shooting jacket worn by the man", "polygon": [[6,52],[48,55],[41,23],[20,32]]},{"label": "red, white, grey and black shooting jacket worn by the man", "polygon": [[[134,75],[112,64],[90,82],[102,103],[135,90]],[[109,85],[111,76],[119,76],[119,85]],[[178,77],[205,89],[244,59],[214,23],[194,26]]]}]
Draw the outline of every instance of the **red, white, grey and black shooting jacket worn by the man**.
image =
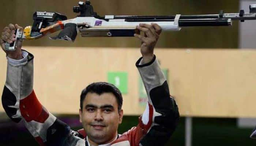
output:
[{"label": "red, white, grey and black shooting jacket worn by the man", "polygon": [[[71,130],[38,101],[33,90],[34,56],[25,50],[22,55],[24,58],[18,61],[7,57],[7,78],[2,95],[7,115],[14,122],[24,122],[40,146],[90,146],[86,131]],[[136,66],[147,92],[146,110],[136,127],[102,146],[162,146],[177,126],[178,107],[169,94],[156,57],[147,64],[142,64],[142,58],[139,58]]]}]

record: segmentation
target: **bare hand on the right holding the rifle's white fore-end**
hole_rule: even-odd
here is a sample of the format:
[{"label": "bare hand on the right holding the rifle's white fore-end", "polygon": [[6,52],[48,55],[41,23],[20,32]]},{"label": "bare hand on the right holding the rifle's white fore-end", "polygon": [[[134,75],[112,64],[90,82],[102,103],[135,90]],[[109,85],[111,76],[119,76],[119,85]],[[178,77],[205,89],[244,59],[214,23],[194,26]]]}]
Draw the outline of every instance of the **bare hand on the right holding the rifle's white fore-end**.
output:
[{"label": "bare hand on the right holding the rifle's white fore-end", "polygon": [[142,41],[142,45],[140,47],[140,52],[143,57],[144,64],[150,62],[154,57],[154,47],[157,44],[157,40],[159,35],[162,32],[161,27],[156,24],[144,24],[141,23],[136,28],[142,32],[144,32],[144,36],[139,34],[134,34],[134,37],[140,39]]}]

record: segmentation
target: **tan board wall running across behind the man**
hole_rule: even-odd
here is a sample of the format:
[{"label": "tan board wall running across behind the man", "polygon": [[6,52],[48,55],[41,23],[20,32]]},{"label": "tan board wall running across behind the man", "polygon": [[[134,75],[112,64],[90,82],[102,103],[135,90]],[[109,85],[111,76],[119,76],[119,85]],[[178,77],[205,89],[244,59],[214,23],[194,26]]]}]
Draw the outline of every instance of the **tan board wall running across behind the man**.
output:
[{"label": "tan board wall running across behind the man", "polygon": [[[110,71],[127,73],[125,115],[140,115],[139,48],[28,47],[34,54],[34,91],[52,113],[78,114],[79,96],[92,82],[108,81]],[[155,54],[168,70],[170,94],[181,116],[256,118],[256,50],[161,49]],[[6,58],[0,55],[0,90]],[[3,107],[0,107],[3,112]]]}]

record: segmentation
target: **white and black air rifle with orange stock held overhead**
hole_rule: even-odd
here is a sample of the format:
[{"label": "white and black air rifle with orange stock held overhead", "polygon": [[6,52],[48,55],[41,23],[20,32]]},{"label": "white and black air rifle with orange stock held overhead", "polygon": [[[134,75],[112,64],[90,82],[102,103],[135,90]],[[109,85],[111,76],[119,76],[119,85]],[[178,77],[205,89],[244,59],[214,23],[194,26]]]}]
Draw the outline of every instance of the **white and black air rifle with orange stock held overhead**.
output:
[{"label": "white and black air rifle with orange stock held overhead", "polygon": [[[139,34],[136,26],[139,23],[157,23],[163,31],[179,31],[181,27],[196,26],[231,26],[232,20],[255,20],[256,4],[250,5],[249,13],[240,10],[239,13],[224,13],[214,15],[174,15],[174,16],[116,16],[101,17],[93,10],[90,1],[79,1],[73,11],[80,13],[74,19],[67,19],[65,15],[57,12],[35,12],[33,26],[27,26],[23,32],[15,30],[16,40],[38,39],[53,32],[62,30],[56,37],[50,39],[63,39],[75,41],[78,32],[82,37],[133,37]],[[6,50],[15,50],[16,41],[5,43]]]}]

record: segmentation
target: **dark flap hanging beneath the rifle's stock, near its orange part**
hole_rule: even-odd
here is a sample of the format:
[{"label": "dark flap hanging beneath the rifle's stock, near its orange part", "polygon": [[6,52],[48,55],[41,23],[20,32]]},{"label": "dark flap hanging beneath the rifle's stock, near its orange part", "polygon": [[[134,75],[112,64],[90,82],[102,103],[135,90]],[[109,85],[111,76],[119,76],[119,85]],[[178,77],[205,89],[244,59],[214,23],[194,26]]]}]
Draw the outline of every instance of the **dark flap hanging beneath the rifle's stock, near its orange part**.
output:
[{"label": "dark flap hanging beneath the rifle's stock, near its orange part", "polygon": [[56,37],[50,37],[50,39],[61,39],[66,41],[75,41],[77,35],[76,24],[67,23],[64,29]]}]

